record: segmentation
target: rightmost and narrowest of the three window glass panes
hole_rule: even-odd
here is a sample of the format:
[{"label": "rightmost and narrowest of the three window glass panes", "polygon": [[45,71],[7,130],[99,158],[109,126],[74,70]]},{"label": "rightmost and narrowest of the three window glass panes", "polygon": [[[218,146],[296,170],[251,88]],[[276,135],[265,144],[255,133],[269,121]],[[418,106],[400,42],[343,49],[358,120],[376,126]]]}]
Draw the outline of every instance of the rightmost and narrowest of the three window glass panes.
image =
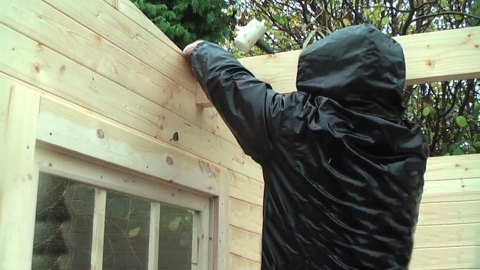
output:
[{"label": "rightmost and narrowest of the three window glass panes", "polygon": [[162,204],[158,269],[190,270],[193,211]]}]

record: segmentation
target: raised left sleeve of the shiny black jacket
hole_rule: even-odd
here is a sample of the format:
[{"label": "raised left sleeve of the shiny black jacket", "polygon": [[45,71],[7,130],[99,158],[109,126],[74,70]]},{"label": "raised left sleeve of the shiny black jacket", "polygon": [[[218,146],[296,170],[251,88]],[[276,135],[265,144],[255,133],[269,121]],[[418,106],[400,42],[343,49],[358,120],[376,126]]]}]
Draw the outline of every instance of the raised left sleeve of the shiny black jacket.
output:
[{"label": "raised left sleeve of the shiny black jacket", "polygon": [[268,157],[282,117],[282,95],[217,44],[201,42],[191,54],[200,85],[244,152],[258,163]]}]

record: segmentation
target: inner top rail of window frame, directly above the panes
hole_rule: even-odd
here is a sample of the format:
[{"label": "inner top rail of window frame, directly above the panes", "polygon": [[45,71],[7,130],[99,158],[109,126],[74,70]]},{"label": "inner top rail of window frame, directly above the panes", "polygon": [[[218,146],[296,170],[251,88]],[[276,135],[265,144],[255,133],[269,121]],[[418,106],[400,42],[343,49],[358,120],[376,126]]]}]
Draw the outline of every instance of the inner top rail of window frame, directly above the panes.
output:
[{"label": "inner top rail of window frame, directly above the panes", "polygon": [[42,172],[75,179],[85,185],[196,211],[202,211],[205,204],[208,204],[208,199],[194,192],[167,185],[156,178],[126,171],[125,168],[98,164],[92,157],[82,157],[75,152],[62,152],[58,147],[46,146],[42,142],[35,151],[35,159]]}]

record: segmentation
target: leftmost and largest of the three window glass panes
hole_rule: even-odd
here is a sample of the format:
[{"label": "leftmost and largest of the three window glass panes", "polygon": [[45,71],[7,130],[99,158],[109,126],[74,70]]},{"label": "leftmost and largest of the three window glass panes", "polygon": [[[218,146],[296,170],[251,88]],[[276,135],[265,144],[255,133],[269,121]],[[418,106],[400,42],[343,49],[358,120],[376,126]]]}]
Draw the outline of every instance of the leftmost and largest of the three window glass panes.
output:
[{"label": "leftmost and largest of the three window glass panes", "polygon": [[88,269],[95,188],[40,173],[32,269]]}]

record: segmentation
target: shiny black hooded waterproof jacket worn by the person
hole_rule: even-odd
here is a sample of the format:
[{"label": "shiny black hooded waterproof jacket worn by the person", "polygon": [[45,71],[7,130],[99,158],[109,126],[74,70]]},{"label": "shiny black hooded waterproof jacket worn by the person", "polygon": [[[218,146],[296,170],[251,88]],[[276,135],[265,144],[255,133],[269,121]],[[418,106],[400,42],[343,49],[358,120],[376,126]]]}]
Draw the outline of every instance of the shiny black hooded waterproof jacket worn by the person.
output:
[{"label": "shiny black hooded waterproof jacket worn by the person", "polygon": [[216,44],[191,55],[200,85],[263,167],[262,269],[407,269],[428,147],[402,120],[404,55],[371,25],[333,32],[277,94]]}]

